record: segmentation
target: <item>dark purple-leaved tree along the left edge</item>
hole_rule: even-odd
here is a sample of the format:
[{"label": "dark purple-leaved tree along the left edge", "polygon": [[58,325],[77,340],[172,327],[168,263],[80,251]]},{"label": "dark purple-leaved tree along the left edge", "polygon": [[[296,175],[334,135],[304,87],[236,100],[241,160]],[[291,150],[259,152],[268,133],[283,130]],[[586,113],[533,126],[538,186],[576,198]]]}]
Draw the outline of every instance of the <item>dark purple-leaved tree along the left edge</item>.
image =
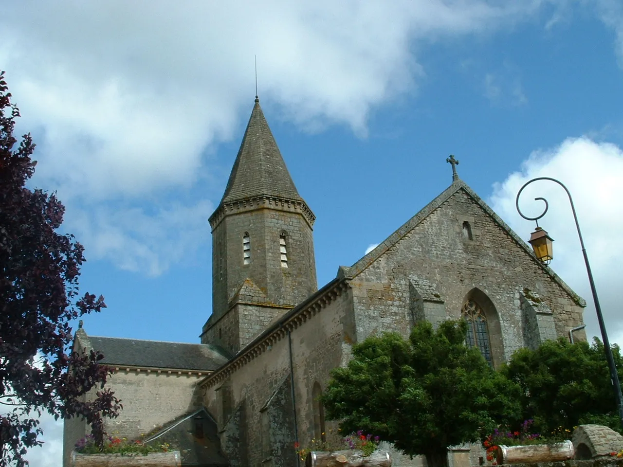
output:
[{"label": "dark purple-leaved tree along the left edge", "polygon": [[[109,374],[102,354],[70,352],[72,319],[105,308],[103,297],[78,298],[83,247],[57,232],[64,206],[54,194],[31,190],[30,134],[13,136],[17,106],[0,72],[0,467],[26,465],[27,448],[42,444],[38,418],[83,417],[103,440],[102,417],[115,417],[110,390],[95,400],[80,396]],[[72,371],[69,372],[68,369]]]}]

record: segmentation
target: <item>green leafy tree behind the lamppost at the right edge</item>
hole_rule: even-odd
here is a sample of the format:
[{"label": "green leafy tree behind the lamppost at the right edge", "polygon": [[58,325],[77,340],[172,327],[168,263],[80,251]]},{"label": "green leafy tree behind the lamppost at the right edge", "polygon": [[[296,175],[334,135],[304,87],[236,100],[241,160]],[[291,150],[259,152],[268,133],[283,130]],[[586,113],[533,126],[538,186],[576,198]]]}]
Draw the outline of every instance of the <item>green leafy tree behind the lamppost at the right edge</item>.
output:
[{"label": "green leafy tree behind the lamppost at the right edge", "polygon": [[[619,348],[612,347],[619,379],[623,362]],[[526,419],[543,435],[583,423],[599,423],[621,431],[614,389],[604,352],[595,338],[571,344],[563,337],[545,341],[536,350],[520,349],[503,372],[521,386]]]}]

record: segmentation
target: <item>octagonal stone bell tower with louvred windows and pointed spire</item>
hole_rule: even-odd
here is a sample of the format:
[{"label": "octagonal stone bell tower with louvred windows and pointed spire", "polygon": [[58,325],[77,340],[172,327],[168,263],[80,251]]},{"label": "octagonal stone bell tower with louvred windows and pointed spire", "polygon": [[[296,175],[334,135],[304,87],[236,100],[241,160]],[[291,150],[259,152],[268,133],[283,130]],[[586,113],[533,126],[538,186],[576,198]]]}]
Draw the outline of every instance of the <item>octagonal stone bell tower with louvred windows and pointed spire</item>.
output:
[{"label": "octagonal stone bell tower with louvred windows and pointed spire", "polygon": [[317,290],[314,220],[256,96],[225,193],[209,219],[212,314],[202,343],[235,354]]}]

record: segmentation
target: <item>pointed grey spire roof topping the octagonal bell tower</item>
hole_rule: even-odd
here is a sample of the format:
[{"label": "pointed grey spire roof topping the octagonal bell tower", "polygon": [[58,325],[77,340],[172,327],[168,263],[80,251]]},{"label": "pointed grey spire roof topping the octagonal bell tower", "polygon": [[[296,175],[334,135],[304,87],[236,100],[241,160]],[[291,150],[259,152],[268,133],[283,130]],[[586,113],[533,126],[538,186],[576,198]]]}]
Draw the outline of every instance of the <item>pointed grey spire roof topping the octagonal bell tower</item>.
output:
[{"label": "pointed grey spire roof topping the octagonal bell tower", "polygon": [[221,204],[255,196],[303,200],[283,162],[257,96]]}]

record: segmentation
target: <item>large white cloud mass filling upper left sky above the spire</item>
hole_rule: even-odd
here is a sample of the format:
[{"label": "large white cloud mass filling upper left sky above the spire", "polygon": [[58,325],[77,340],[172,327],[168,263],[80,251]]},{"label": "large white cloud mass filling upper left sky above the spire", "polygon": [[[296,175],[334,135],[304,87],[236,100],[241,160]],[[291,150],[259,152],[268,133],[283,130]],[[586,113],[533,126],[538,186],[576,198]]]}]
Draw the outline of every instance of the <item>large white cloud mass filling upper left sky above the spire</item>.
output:
[{"label": "large white cloud mass filling upper left sky above the spire", "polygon": [[[5,1],[0,63],[18,130],[39,144],[36,184],[59,192],[89,251],[155,274],[180,255],[158,244],[174,236],[167,215],[141,203],[210,174],[206,149],[231,138],[252,105],[254,55],[260,97],[284,118],[365,134],[371,108],[416,88],[414,42],[490,34],[540,4]],[[137,210],[153,229],[126,222]]]}]

